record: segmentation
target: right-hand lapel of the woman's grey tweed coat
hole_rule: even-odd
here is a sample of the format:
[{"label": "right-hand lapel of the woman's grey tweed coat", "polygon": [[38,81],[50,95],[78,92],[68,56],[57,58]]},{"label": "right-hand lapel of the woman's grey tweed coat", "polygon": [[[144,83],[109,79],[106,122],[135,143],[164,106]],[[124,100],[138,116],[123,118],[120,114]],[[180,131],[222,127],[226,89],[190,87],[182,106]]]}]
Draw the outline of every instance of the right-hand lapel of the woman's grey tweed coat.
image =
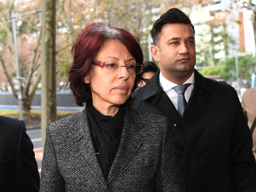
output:
[{"label": "right-hand lapel of the woman's grey tweed coat", "polygon": [[138,120],[132,114],[133,110],[127,107],[119,148],[109,171],[107,183],[118,177],[119,172],[132,159],[143,142],[143,138],[139,134],[139,127],[135,125]]}]

